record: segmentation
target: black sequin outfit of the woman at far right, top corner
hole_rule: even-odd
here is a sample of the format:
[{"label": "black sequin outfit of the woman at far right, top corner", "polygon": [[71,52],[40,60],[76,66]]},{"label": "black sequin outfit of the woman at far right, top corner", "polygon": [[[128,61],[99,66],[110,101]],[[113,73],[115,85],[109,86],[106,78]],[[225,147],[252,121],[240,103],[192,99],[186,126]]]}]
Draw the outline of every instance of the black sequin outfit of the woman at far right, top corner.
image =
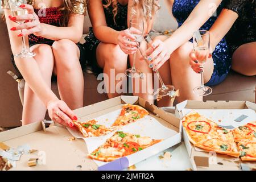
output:
[{"label": "black sequin outfit of the woman at far right, top corner", "polygon": [[242,44],[256,42],[256,1],[226,0],[225,9],[238,14],[236,22],[226,35],[230,53]]}]

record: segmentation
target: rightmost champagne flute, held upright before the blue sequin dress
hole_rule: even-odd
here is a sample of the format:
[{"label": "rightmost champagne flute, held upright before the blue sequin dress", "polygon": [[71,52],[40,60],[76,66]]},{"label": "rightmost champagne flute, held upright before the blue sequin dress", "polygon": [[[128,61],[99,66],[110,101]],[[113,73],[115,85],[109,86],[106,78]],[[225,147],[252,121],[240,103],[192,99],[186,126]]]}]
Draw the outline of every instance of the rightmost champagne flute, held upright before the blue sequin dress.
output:
[{"label": "rightmost champagne flute, held upright before the blue sequin dress", "polygon": [[201,85],[196,86],[193,92],[198,96],[208,96],[212,93],[212,89],[209,86],[204,85],[203,68],[204,63],[207,61],[210,49],[210,34],[207,30],[196,31],[193,34],[193,47],[196,54],[197,60],[201,63]]}]

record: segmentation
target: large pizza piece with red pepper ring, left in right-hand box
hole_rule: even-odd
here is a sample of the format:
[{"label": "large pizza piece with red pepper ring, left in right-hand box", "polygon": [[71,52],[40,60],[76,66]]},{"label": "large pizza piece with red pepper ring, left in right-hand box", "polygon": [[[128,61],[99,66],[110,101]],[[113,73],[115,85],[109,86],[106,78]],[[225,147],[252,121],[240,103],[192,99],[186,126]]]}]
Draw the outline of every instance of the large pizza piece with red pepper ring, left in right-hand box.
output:
[{"label": "large pizza piece with red pepper ring, left in right-hand box", "polygon": [[195,112],[187,114],[182,122],[194,146],[237,158],[240,155],[232,130],[219,127],[215,122]]}]

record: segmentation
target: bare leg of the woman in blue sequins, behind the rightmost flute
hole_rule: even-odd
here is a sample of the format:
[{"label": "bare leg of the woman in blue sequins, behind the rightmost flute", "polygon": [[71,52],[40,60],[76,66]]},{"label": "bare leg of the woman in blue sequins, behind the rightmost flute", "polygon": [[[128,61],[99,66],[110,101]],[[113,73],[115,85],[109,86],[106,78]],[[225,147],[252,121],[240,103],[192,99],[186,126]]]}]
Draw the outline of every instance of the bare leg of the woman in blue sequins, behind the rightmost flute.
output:
[{"label": "bare leg of the woman in blue sequins, behind the rightmost flute", "polygon": [[[180,90],[177,102],[184,100],[203,100],[203,97],[193,93],[193,88],[201,84],[201,76],[195,73],[189,65],[189,53],[193,44],[187,42],[174,51],[170,58],[172,84]],[[208,59],[204,64],[204,82],[208,82],[213,73],[213,60]]]}]

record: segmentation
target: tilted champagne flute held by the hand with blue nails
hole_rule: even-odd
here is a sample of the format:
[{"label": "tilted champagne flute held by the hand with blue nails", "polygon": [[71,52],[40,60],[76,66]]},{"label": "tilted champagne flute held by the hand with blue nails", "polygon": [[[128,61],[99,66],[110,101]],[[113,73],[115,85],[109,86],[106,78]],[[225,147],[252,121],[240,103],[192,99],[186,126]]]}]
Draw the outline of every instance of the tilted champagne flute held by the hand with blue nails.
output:
[{"label": "tilted champagne flute held by the hand with blue nails", "polygon": [[[151,39],[150,35],[148,35],[148,34],[144,36],[144,40],[148,44],[152,42],[152,39]],[[145,55],[145,53],[143,53],[142,48],[139,48],[139,51],[141,52],[141,55],[143,56],[144,60],[148,63],[147,56]],[[156,70],[155,73],[158,76],[160,84],[161,84],[161,88],[159,88],[158,92],[156,92],[158,94],[158,96],[164,97],[164,96],[167,96],[167,95],[170,95],[170,94],[172,95],[172,92],[174,92],[174,89],[175,89],[174,86],[165,85],[164,82],[163,82],[162,77],[159,74],[159,71]]]}]

